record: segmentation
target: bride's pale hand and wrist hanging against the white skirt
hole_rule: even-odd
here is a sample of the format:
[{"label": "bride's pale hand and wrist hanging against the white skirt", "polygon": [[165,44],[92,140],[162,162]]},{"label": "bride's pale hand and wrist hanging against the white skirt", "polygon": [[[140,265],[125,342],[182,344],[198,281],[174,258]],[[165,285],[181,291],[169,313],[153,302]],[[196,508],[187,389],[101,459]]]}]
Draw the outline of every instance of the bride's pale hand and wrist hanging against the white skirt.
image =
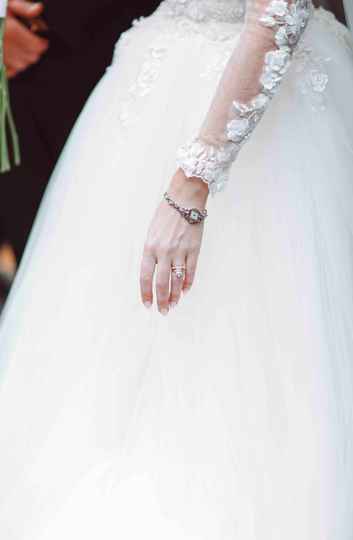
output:
[{"label": "bride's pale hand and wrist hanging against the white skirt", "polygon": [[[187,179],[179,170],[173,177],[168,194],[181,206],[203,210],[208,186],[197,178]],[[140,285],[146,307],[153,304],[153,276],[156,273],[156,300],[160,313],[167,315],[178,303],[181,292],[193,284],[201,247],[203,223],[190,225],[177,210],[162,200],[150,225],[143,251]],[[178,279],[172,266],[185,266],[185,279]]]}]

